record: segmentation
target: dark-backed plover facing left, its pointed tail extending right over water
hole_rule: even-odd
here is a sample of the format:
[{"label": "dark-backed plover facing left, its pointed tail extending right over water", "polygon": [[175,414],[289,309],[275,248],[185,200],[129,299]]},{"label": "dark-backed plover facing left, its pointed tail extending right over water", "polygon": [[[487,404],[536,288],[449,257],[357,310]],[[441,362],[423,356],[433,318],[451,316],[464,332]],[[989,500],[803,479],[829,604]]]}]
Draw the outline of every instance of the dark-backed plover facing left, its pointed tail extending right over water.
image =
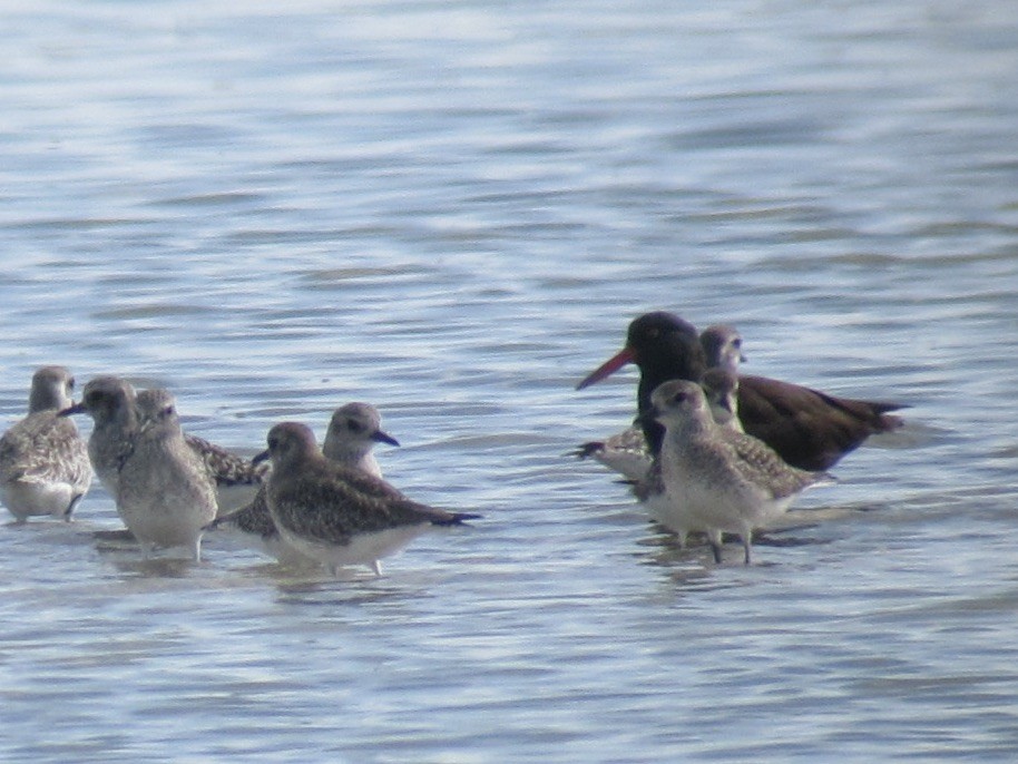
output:
[{"label": "dark-backed plover facing left, its pointed tail extending right over water", "polygon": [[403,496],[363,470],[335,464],[322,454],[311,429],[282,422],[268,431],[272,459],[268,511],[283,539],[334,572],[378,564],[432,526],[456,526],[477,515],[434,509]]}]

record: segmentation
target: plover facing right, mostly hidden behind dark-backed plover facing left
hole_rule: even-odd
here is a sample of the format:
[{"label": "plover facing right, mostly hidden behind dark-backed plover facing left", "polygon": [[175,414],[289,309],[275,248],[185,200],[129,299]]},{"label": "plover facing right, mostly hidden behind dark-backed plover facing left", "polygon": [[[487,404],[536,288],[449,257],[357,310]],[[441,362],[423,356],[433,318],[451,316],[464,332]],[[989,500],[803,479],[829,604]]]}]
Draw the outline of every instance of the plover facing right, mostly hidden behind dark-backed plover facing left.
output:
[{"label": "plover facing right, mostly hidden behind dark-backed plover facing left", "polygon": [[[382,470],[373,453],[376,443],[400,444],[395,438],[382,430],[382,418],[378,409],[370,403],[346,403],[336,409],[329,421],[322,453],[330,461],[363,470],[381,479]],[[301,554],[280,536],[268,512],[265,486],[249,505],[233,515],[221,515],[212,526],[235,527],[246,537],[256,539],[270,555],[284,565],[317,565],[317,560]]]}]

